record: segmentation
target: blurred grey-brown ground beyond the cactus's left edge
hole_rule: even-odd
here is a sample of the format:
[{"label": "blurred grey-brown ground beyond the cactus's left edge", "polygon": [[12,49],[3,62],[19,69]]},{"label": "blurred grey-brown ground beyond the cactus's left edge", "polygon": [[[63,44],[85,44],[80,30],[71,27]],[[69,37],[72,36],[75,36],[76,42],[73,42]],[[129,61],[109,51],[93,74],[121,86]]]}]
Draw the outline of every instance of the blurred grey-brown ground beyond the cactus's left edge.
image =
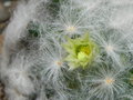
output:
[{"label": "blurred grey-brown ground beyond the cactus's left edge", "polygon": [[[10,17],[19,0],[0,0],[0,54],[3,44],[3,30],[9,23]],[[4,86],[0,81],[0,100],[7,100],[4,94]]]}]

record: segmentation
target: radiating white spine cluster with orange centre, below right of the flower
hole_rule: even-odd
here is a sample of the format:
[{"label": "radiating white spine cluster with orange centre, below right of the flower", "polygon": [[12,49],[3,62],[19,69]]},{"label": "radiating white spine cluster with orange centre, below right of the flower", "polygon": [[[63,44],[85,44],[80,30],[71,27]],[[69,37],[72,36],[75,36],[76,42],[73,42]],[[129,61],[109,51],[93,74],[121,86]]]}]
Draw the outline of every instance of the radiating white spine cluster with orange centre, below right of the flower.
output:
[{"label": "radiating white spine cluster with orange centre, below right of the flower", "polygon": [[90,97],[99,98],[100,100],[115,100],[122,93],[126,93],[129,84],[125,82],[124,73],[117,67],[102,67],[98,68],[98,71],[91,72],[86,79],[90,86]]}]

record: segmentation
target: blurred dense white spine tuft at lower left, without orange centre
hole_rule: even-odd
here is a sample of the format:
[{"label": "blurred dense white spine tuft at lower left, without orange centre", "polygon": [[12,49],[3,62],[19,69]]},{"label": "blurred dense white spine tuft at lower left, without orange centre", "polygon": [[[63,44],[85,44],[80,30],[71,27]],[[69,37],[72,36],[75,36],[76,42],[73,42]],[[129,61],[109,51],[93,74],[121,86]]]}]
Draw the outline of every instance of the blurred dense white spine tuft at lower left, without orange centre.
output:
[{"label": "blurred dense white spine tuft at lower left, without orange centre", "polygon": [[21,56],[16,58],[6,73],[9,74],[9,86],[16,88],[22,94],[31,94],[34,92],[34,86],[29,78],[29,69],[32,67],[32,62],[28,58]]}]

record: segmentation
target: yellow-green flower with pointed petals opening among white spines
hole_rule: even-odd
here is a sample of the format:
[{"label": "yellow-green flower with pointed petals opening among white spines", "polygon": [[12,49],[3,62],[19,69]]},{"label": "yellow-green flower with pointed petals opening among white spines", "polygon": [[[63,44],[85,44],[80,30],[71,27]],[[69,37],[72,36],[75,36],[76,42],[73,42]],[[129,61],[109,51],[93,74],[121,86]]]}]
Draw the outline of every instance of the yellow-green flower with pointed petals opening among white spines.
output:
[{"label": "yellow-green flower with pointed petals opening among white spines", "polygon": [[78,39],[68,39],[63,47],[68,52],[65,61],[69,62],[70,69],[85,68],[98,54],[98,47],[90,39],[89,33]]}]

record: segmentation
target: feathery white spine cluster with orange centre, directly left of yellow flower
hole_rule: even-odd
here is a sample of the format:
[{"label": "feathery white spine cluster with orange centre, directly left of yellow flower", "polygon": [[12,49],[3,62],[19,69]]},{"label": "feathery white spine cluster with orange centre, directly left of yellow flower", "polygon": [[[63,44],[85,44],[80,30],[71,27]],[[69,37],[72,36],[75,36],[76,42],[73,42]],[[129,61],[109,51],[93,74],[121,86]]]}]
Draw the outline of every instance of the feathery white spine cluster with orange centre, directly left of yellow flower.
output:
[{"label": "feathery white spine cluster with orange centre, directly left of yellow flower", "polygon": [[41,51],[40,63],[42,67],[42,80],[45,82],[52,82],[55,88],[64,87],[64,84],[59,80],[63,76],[62,69],[68,69],[63,61],[63,50],[59,41],[54,38],[52,43],[47,44],[47,47]]}]

